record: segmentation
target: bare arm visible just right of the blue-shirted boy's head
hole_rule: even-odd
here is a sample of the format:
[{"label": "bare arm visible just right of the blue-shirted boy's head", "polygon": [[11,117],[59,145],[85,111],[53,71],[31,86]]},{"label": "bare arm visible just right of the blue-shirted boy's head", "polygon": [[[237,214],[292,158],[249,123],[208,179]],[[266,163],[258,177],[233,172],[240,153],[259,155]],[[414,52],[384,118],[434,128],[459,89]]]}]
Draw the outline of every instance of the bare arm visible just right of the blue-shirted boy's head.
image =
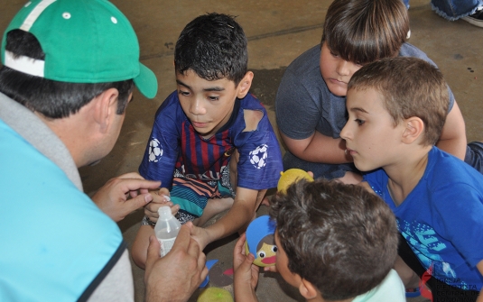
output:
[{"label": "bare arm visible just right of the blue-shirted boy's head", "polygon": [[436,142],[436,146],[456,156],[460,160],[464,160],[466,144],[465,121],[463,120],[460,107],[454,101],[454,105],[446,117],[446,122],[442,128],[440,140]]}]

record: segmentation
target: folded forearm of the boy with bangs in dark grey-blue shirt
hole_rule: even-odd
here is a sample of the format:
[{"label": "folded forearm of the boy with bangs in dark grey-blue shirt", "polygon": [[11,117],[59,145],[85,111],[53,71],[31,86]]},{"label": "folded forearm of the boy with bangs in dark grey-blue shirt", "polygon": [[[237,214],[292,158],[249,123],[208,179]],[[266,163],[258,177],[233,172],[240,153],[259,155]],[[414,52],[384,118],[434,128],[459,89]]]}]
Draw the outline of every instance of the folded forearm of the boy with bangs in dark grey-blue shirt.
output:
[{"label": "folded forearm of the boy with bangs in dark grey-blue shirt", "polygon": [[339,164],[352,162],[352,157],[345,153],[346,142],[334,139],[318,131],[303,140],[294,140],[280,132],[287,149],[296,157],[312,162]]}]

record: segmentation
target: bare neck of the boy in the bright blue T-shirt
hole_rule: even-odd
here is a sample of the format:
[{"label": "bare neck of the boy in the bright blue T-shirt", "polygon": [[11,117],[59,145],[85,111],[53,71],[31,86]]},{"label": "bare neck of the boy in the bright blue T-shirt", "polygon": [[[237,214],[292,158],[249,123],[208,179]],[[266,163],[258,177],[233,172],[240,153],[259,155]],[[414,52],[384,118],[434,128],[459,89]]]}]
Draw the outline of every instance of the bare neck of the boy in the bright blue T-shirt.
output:
[{"label": "bare neck of the boy in the bright blue T-shirt", "polygon": [[413,191],[420,179],[423,178],[428,164],[428,153],[432,150],[432,146],[418,149],[418,151],[404,157],[397,164],[383,167],[389,177],[387,188],[396,206],[404,202],[404,199]]}]

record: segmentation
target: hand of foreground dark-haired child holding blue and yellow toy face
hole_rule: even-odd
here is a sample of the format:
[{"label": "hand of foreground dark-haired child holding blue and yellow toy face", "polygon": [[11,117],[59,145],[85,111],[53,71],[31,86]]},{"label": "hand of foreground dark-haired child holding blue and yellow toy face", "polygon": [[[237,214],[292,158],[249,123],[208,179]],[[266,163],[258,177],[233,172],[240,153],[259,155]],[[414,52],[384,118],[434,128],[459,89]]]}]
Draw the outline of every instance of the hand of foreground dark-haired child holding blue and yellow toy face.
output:
[{"label": "hand of foreground dark-haired child holding blue and yellow toy face", "polygon": [[245,253],[246,233],[243,233],[233,250],[233,284],[237,301],[257,301],[255,288],[258,283],[258,267],[255,256]]}]

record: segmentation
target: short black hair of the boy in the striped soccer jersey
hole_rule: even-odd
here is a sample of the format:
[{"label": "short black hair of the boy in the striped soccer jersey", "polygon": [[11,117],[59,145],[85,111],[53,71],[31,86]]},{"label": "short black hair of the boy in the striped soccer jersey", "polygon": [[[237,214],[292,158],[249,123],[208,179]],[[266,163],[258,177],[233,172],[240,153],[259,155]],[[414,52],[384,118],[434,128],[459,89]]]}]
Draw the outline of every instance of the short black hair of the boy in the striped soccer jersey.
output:
[{"label": "short black hair of the boy in the striped soccer jersey", "polygon": [[245,32],[227,14],[204,14],[182,30],[174,49],[174,68],[193,70],[200,78],[227,78],[238,86],[248,69]]}]

